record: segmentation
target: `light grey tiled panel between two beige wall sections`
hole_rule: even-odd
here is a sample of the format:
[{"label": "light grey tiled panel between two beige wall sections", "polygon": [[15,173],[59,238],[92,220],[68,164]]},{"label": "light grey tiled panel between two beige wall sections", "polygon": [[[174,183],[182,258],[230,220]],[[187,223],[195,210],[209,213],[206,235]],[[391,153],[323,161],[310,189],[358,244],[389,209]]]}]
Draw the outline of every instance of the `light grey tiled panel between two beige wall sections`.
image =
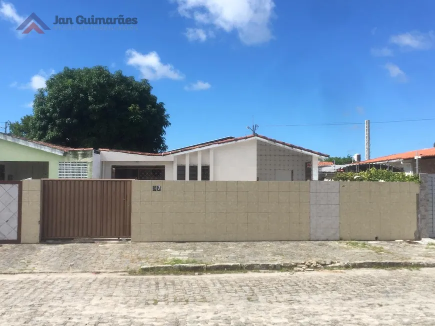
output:
[{"label": "light grey tiled panel between two beige wall sections", "polygon": [[310,240],[340,239],[339,182],[309,183]]}]

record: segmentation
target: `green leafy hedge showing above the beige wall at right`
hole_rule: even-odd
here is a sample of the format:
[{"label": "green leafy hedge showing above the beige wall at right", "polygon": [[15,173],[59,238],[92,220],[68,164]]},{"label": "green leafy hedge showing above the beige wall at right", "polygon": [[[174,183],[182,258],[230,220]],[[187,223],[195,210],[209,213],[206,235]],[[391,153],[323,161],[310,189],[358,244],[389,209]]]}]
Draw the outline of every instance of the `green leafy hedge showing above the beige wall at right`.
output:
[{"label": "green leafy hedge showing above the beige wall at right", "polygon": [[391,172],[370,168],[363,172],[337,172],[332,178],[333,181],[399,181],[399,182],[420,182],[418,175],[406,175],[404,172]]}]

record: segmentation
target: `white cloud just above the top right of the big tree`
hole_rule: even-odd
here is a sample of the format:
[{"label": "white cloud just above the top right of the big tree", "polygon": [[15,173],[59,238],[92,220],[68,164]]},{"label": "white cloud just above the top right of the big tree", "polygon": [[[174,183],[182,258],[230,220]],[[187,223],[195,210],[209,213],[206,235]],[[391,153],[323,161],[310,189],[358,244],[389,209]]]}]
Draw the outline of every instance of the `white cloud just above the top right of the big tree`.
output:
[{"label": "white cloud just above the top right of the big tree", "polygon": [[163,64],[157,52],[149,52],[142,54],[134,49],[125,52],[127,57],[127,64],[137,68],[142,74],[143,78],[149,80],[169,78],[169,79],[183,79],[184,75],[176,70],[171,64]]}]

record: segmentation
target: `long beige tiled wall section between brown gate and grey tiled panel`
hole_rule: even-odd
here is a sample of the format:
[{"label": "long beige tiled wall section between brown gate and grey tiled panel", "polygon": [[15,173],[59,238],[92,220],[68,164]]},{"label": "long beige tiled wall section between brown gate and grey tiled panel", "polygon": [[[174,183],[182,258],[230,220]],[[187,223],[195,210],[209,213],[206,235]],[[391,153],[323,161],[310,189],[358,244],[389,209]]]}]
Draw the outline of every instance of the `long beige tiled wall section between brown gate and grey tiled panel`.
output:
[{"label": "long beige tiled wall section between brown gate and grey tiled panel", "polygon": [[133,181],[132,191],[131,241],[309,240],[305,181]]}]

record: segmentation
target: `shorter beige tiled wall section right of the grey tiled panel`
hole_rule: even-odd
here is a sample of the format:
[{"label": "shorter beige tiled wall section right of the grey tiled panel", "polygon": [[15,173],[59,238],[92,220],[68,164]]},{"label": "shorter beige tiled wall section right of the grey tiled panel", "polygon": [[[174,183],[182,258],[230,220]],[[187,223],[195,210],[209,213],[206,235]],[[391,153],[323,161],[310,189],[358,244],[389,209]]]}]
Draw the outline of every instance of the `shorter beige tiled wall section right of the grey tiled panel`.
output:
[{"label": "shorter beige tiled wall section right of the grey tiled panel", "polygon": [[340,239],[413,240],[418,192],[413,182],[340,182]]}]

